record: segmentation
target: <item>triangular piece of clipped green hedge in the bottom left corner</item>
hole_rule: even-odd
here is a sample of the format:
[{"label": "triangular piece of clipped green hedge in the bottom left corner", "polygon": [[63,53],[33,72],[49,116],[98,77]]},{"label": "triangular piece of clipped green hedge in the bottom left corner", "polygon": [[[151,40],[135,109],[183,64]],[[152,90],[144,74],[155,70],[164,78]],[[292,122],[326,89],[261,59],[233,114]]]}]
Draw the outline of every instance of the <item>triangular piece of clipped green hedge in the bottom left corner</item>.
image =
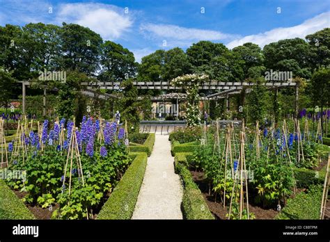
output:
[{"label": "triangular piece of clipped green hedge in the bottom left corner", "polygon": [[0,179],[0,219],[36,219],[5,181]]}]

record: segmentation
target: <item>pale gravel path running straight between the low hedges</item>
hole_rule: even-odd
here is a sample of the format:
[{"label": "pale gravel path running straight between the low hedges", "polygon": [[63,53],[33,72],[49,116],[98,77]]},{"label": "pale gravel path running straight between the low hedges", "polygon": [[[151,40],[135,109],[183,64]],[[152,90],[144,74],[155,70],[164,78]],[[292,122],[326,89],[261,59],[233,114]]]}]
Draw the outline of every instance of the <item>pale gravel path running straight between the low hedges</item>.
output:
[{"label": "pale gravel path running straight between the low hedges", "polygon": [[168,135],[156,135],[132,219],[182,219],[182,186]]}]

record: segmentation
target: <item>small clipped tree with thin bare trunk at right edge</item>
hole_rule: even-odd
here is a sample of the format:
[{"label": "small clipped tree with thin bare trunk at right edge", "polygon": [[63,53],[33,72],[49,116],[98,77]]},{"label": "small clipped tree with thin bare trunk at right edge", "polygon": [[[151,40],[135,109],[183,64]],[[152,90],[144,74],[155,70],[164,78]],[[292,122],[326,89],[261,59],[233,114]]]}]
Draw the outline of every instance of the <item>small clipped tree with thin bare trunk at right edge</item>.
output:
[{"label": "small clipped tree with thin bare trunk at right edge", "polygon": [[[329,104],[330,100],[330,69],[322,68],[315,72],[311,79],[312,98],[315,104],[320,105],[321,113],[324,106]],[[323,115],[321,115],[323,130]]]}]

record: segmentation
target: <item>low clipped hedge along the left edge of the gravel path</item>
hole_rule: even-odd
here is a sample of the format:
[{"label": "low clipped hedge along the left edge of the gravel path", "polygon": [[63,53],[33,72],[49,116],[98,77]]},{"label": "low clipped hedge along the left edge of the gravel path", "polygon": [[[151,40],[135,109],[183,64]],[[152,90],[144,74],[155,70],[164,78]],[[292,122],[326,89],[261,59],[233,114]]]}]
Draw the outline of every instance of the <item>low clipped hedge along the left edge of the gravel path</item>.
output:
[{"label": "low clipped hedge along the left edge of the gravel path", "polygon": [[146,153],[131,153],[135,156],[131,166],[113,189],[104,203],[97,219],[131,219],[147,166]]}]

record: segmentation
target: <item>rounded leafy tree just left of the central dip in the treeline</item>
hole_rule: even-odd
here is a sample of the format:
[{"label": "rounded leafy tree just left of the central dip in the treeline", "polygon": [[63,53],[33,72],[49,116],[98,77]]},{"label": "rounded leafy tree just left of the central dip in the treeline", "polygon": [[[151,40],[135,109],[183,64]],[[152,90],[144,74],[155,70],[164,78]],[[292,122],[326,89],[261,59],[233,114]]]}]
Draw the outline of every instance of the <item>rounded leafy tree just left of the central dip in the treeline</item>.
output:
[{"label": "rounded leafy tree just left of the central dip in the treeline", "polygon": [[102,72],[99,76],[104,81],[123,81],[136,75],[134,54],[123,46],[111,41],[101,45]]}]

